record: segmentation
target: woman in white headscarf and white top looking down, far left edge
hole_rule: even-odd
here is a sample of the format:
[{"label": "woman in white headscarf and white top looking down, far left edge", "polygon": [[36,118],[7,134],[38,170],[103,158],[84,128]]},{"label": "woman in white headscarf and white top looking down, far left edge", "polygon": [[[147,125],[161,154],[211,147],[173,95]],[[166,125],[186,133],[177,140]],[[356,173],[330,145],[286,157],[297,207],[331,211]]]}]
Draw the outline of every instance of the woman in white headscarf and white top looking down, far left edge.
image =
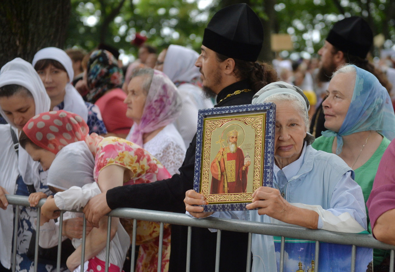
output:
[{"label": "woman in white headscarf and white top looking down, far left edge", "polygon": [[[5,194],[28,196],[32,191],[49,194],[45,186],[46,172],[40,164],[33,161],[25,150],[14,150],[11,130],[15,141],[26,122],[34,115],[48,111],[51,100],[45,87],[32,65],[21,58],[9,61],[0,71],[0,113],[8,122],[0,125],[0,261],[2,266],[11,267],[11,248],[13,238],[14,210],[8,205]],[[19,207],[16,271],[29,271],[33,261],[27,257],[36,208]],[[69,224],[70,223],[70,224]],[[92,227],[88,226],[90,231]],[[82,237],[82,218],[65,222],[64,235],[69,238]],[[52,265],[38,263],[38,270],[51,270]]]}]

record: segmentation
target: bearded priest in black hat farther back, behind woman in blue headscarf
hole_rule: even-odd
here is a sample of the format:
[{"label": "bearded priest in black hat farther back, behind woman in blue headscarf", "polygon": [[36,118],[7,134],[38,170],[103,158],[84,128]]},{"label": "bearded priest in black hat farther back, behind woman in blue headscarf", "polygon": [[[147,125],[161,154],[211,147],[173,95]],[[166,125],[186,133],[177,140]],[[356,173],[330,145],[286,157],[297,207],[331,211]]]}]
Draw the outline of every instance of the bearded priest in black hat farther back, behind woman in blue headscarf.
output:
[{"label": "bearded priest in black hat farther back, behind woman in blue headscarf", "polygon": [[[373,32],[362,17],[352,16],[336,22],[329,31],[324,46],[318,50],[318,55],[321,56],[318,80],[327,87],[327,82],[331,79],[333,72],[340,66],[351,63],[374,74],[378,81],[390,91],[392,86],[386,75],[367,60],[372,44]],[[325,117],[321,104],[311,119],[310,133],[316,138],[320,137],[321,132],[326,130],[324,123]]]}]

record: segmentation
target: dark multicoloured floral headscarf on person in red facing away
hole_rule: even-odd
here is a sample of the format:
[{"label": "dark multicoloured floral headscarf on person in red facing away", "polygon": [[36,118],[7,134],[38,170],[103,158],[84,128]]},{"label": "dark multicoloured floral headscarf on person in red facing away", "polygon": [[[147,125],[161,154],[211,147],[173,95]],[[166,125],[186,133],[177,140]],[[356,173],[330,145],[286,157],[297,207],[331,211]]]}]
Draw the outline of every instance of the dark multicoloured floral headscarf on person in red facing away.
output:
[{"label": "dark multicoloured floral headscarf on person in red facing away", "polygon": [[122,87],[123,80],[122,69],[113,54],[107,50],[92,52],[87,67],[88,102],[94,104],[106,91]]}]

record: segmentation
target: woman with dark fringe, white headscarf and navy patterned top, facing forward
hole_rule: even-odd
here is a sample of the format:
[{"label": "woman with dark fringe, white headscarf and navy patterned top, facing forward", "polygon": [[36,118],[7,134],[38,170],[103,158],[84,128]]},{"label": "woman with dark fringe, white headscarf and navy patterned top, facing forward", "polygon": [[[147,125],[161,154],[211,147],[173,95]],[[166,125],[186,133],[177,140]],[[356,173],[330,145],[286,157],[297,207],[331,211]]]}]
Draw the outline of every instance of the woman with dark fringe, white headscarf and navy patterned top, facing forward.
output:
[{"label": "woman with dark fringe, white headscarf and navy patterned top, facing forward", "polygon": [[51,110],[76,113],[87,122],[89,133],[107,134],[99,107],[85,102],[71,85],[73,63],[66,52],[56,47],[43,48],[34,55],[32,64],[51,98]]}]

